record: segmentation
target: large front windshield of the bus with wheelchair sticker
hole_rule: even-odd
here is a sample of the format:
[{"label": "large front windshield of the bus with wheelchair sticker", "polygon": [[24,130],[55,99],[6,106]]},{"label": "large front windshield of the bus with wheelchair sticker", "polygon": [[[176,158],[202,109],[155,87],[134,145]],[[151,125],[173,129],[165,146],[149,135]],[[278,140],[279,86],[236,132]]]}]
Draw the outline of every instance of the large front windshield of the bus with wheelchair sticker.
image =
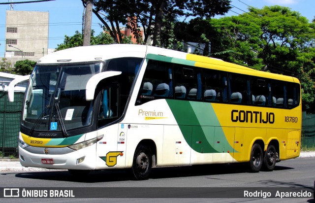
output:
[{"label": "large front windshield of the bus with wheelchair sticker", "polygon": [[26,91],[22,125],[31,131],[60,131],[90,125],[93,102],[86,101],[85,89],[101,67],[101,63],[36,66]]}]

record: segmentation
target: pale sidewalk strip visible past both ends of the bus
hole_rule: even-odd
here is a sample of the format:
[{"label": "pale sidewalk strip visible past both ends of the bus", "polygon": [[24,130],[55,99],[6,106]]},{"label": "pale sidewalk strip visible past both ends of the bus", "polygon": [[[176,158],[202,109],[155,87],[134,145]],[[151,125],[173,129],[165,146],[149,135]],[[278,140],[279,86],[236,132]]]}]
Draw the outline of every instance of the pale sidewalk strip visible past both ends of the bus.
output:
[{"label": "pale sidewalk strip visible past both ends of the bus", "polygon": [[[298,158],[314,158],[314,152],[301,152]],[[0,158],[0,171],[49,171],[58,169],[43,169],[43,168],[32,168],[22,167],[18,159],[1,159]]]}]

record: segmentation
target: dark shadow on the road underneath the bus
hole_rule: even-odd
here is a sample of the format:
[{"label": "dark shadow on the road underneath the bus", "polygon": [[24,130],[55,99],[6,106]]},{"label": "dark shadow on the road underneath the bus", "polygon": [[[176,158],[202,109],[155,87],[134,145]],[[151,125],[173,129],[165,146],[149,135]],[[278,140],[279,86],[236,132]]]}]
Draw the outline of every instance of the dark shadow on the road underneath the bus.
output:
[{"label": "dark shadow on the road underneath the bus", "polygon": [[[275,170],[292,169],[289,167],[276,166]],[[261,171],[264,172],[264,171]],[[183,166],[183,167],[162,167],[152,169],[150,179],[175,178],[187,176],[203,176],[203,175],[218,175],[231,173],[251,173],[247,164],[212,164],[198,166]],[[2,175],[4,173],[1,173]],[[42,180],[57,180],[82,183],[96,182],[113,182],[133,180],[129,169],[115,170],[98,170],[91,171],[88,175],[73,176],[68,171],[34,171],[34,172],[19,172],[16,177],[42,179]]]}]

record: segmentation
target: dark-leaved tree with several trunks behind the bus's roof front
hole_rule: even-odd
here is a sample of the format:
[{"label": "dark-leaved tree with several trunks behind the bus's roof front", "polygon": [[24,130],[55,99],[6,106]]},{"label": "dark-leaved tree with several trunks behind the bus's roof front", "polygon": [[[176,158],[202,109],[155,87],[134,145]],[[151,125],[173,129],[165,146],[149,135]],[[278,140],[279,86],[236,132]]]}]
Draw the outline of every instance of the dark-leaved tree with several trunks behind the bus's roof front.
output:
[{"label": "dark-leaved tree with several trunks behind the bus's roof front", "polygon": [[[85,0],[82,2],[86,6]],[[170,30],[172,23],[181,18],[209,18],[222,15],[231,8],[230,0],[94,0],[93,5],[93,13],[116,43],[123,43],[119,27],[122,24],[131,29],[138,43],[146,43],[152,36],[153,46],[161,46],[162,34],[168,34],[163,29]],[[131,19],[129,25],[127,19]],[[140,41],[138,23],[143,28],[143,42]]]}]

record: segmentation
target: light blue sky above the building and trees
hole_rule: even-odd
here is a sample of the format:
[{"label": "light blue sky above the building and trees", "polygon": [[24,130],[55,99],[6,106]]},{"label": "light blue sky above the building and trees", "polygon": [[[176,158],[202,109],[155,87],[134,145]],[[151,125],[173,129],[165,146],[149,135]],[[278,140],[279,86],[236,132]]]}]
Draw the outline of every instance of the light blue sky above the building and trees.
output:
[{"label": "light blue sky above the building and trees", "polygon": [[[11,0],[0,0],[9,2]],[[27,0],[13,0],[13,2]],[[315,17],[315,0],[232,0],[232,9],[225,16],[239,15],[248,12],[248,6],[262,8],[264,6],[281,5],[298,11],[309,21]],[[75,31],[82,31],[83,5],[81,0],[52,0],[35,3],[16,3],[13,10],[49,12],[48,48],[56,48],[63,43],[64,35],[72,36]],[[9,4],[0,4],[0,57],[4,57],[5,48],[5,13],[10,10]],[[220,16],[217,16],[218,18]],[[92,29],[95,34],[102,32],[100,21],[93,14]]]}]

